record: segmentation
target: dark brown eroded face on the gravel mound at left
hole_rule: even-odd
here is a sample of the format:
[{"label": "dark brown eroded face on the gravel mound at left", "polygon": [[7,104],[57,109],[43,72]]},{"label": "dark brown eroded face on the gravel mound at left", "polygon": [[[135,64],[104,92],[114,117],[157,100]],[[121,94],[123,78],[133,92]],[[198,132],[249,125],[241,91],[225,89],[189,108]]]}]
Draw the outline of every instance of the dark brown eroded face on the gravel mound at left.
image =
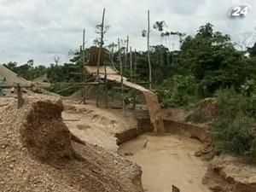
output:
[{"label": "dark brown eroded face on the gravel mound at left", "polygon": [[34,102],[20,129],[23,145],[40,160],[74,157],[70,132],[61,121],[62,111],[61,100],[56,103]]}]

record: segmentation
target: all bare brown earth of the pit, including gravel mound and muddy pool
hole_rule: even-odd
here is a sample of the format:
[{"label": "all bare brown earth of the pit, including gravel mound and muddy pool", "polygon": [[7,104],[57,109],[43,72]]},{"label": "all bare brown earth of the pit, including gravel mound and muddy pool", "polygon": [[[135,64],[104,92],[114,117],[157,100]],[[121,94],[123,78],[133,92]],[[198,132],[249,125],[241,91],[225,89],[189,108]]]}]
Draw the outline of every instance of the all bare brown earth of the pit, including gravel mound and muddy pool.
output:
[{"label": "all bare brown earth of the pit, including gravel mound and muddy pool", "polygon": [[212,160],[206,129],[185,122],[191,113],[163,111],[166,134],[155,136],[130,110],[30,91],[25,101],[0,98],[1,191],[256,191],[256,169]]}]

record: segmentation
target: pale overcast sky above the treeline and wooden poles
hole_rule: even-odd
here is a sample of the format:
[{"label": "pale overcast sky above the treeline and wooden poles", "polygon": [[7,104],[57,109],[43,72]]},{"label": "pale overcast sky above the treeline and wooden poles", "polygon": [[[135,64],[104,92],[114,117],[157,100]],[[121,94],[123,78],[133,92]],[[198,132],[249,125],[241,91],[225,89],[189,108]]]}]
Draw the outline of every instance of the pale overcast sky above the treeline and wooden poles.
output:
[{"label": "pale overcast sky above the treeline and wooden poles", "polygon": [[[229,9],[237,3],[252,9],[243,19],[230,19]],[[166,20],[168,30],[187,34],[195,34],[206,22],[233,37],[253,32],[256,26],[255,0],[0,0],[0,63],[33,59],[47,65],[54,55],[67,62],[68,50],[79,49],[83,28],[86,46],[92,44],[104,7],[111,26],[106,44],[129,35],[136,49],[146,49],[141,31],[147,26],[147,9],[152,25]],[[159,33],[152,29],[151,34],[151,44],[159,43]]]}]

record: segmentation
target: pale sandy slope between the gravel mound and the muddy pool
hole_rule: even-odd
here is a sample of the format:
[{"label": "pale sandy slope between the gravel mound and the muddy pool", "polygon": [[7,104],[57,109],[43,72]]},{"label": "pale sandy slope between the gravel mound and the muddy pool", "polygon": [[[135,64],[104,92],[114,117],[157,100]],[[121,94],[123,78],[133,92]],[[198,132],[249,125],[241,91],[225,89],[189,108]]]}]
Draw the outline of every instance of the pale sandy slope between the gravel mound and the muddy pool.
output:
[{"label": "pale sandy slope between the gravel mound and the muddy pool", "polygon": [[137,127],[137,121],[131,113],[117,109],[96,108],[95,103],[77,104],[66,100],[62,118],[68,129],[81,140],[101,146],[116,153],[115,134]]}]

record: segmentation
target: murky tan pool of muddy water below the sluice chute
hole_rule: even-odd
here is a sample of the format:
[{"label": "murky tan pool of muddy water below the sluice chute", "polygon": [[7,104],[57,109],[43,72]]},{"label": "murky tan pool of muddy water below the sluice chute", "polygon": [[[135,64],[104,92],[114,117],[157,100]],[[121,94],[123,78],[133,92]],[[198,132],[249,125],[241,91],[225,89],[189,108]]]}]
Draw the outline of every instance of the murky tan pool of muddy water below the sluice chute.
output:
[{"label": "murky tan pool of muddy water below the sluice chute", "polygon": [[200,146],[187,137],[146,134],[122,144],[119,153],[142,166],[145,192],[172,192],[172,184],[181,192],[209,192],[201,184],[207,165],[194,156]]}]

